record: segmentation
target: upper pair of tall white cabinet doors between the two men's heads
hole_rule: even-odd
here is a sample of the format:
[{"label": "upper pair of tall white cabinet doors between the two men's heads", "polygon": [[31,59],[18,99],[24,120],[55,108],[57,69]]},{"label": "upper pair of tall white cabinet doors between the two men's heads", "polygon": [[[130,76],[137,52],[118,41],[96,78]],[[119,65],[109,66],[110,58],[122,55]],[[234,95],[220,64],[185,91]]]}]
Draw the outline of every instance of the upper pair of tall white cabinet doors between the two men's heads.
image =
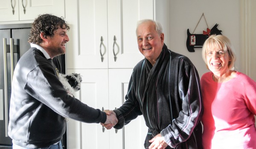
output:
[{"label": "upper pair of tall white cabinet doors between the two men's heads", "polygon": [[153,0],[78,0],[78,48],[67,69],[133,68],[144,57],[136,27],[153,19]]}]

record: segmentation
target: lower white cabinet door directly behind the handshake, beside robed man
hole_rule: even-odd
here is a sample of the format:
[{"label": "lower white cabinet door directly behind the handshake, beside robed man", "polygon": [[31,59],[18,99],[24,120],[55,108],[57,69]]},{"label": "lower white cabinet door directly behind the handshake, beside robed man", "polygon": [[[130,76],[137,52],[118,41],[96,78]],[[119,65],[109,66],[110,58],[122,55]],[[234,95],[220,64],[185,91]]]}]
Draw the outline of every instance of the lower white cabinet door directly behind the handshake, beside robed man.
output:
[{"label": "lower white cabinet door directly behind the handshake, beside robed man", "polygon": [[[109,69],[109,107],[119,108],[125,102],[133,69]],[[123,129],[110,131],[110,149],[144,149],[147,127],[143,116],[132,120]]]}]

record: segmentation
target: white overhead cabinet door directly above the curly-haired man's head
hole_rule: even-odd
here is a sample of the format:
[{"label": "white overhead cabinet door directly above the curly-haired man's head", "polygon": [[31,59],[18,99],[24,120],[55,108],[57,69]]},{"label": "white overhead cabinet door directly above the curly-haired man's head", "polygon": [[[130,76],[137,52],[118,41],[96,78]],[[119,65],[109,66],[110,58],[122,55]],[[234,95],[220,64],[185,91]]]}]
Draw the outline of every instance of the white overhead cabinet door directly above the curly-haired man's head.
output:
[{"label": "white overhead cabinet door directly above the curly-haired man's head", "polygon": [[64,0],[19,0],[20,20],[34,20],[38,14],[65,17]]}]

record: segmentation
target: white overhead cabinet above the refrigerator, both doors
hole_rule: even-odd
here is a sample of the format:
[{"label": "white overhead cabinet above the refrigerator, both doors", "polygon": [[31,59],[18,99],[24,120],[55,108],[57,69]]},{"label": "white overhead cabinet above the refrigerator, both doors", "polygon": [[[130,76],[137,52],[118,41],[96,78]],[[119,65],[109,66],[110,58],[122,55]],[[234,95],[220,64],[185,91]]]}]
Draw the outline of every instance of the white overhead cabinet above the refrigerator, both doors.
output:
[{"label": "white overhead cabinet above the refrigerator, both doors", "polygon": [[64,0],[0,0],[0,22],[34,20],[38,14],[65,17]]}]

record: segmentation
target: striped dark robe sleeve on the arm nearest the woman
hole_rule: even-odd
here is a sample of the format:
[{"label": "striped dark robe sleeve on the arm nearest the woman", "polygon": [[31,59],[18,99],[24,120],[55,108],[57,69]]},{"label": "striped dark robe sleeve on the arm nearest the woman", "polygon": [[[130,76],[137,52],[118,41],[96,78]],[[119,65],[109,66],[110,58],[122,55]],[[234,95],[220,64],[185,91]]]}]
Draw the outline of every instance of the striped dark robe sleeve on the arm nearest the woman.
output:
[{"label": "striped dark robe sleeve on the arm nearest the woman", "polygon": [[178,74],[178,94],[182,99],[182,110],[168,127],[161,131],[169,146],[176,147],[192,135],[200,123],[203,113],[201,87],[198,72],[190,60],[181,60]]}]

